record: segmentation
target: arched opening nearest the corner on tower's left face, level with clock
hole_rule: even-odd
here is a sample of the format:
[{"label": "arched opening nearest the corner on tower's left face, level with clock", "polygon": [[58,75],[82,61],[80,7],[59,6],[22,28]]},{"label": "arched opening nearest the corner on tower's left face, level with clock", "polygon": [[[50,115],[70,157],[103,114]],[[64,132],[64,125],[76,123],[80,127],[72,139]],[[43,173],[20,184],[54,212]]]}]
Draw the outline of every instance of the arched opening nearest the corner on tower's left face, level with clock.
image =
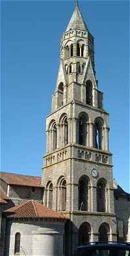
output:
[{"label": "arched opening nearest the corner on tower's left face, level with clock", "polygon": [[57,209],[59,211],[66,210],[66,178],[60,178],[57,190]]}]

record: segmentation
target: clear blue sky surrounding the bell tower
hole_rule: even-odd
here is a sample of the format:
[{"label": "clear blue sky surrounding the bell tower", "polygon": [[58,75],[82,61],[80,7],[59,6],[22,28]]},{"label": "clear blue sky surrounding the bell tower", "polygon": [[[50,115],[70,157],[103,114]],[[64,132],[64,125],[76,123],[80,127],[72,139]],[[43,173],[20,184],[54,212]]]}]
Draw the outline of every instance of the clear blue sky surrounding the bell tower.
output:
[{"label": "clear blue sky surrounding the bell tower", "polygon": [[[1,3],[1,169],[41,175],[60,38],[74,1]],[[129,191],[129,2],[79,1],[110,113],[114,177]]]}]

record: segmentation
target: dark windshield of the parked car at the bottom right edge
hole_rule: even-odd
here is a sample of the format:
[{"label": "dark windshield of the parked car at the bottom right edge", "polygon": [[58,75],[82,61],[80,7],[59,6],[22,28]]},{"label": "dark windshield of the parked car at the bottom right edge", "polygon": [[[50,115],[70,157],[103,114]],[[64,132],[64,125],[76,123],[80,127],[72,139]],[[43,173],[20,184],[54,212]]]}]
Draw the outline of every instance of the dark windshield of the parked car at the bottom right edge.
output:
[{"label": "dark windshield of the parked car at the bottom right edge", "polygon": [[73,256],[130,256],[125,249],[85,249],[78,250]]}]

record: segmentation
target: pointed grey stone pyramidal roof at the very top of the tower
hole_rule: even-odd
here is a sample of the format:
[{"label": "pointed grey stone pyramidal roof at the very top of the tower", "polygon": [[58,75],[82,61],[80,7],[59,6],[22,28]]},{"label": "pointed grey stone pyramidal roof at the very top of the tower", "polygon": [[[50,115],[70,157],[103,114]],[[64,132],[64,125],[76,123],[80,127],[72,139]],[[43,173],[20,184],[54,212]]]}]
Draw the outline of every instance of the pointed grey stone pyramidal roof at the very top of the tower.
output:
[{"label": "pointed grey stone pyramidal roof at the very top of the tower", "polygon": [[86,23],[83,20],[83,16],[79,10],[79,5],[77,1],[75,5],[75,10],[73,12],[72,18],[68,24],[66,31],[69,31],[70,29],[88,30]]}]

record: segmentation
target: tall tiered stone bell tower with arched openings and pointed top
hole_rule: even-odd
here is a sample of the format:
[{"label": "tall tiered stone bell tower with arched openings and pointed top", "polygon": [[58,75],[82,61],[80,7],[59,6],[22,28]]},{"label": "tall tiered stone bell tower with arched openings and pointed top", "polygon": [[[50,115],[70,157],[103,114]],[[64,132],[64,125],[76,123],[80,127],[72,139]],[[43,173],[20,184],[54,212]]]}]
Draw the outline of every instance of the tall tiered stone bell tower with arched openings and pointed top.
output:
[{"label": "tall tiered stone bell tower with arched openings and pointed top", "polygon": [[65,254],[88,241],[116,240],[109,113],[96,80],[94,38],[78,3],[60,43],[46,135],[44,204],[71,220]]}]

